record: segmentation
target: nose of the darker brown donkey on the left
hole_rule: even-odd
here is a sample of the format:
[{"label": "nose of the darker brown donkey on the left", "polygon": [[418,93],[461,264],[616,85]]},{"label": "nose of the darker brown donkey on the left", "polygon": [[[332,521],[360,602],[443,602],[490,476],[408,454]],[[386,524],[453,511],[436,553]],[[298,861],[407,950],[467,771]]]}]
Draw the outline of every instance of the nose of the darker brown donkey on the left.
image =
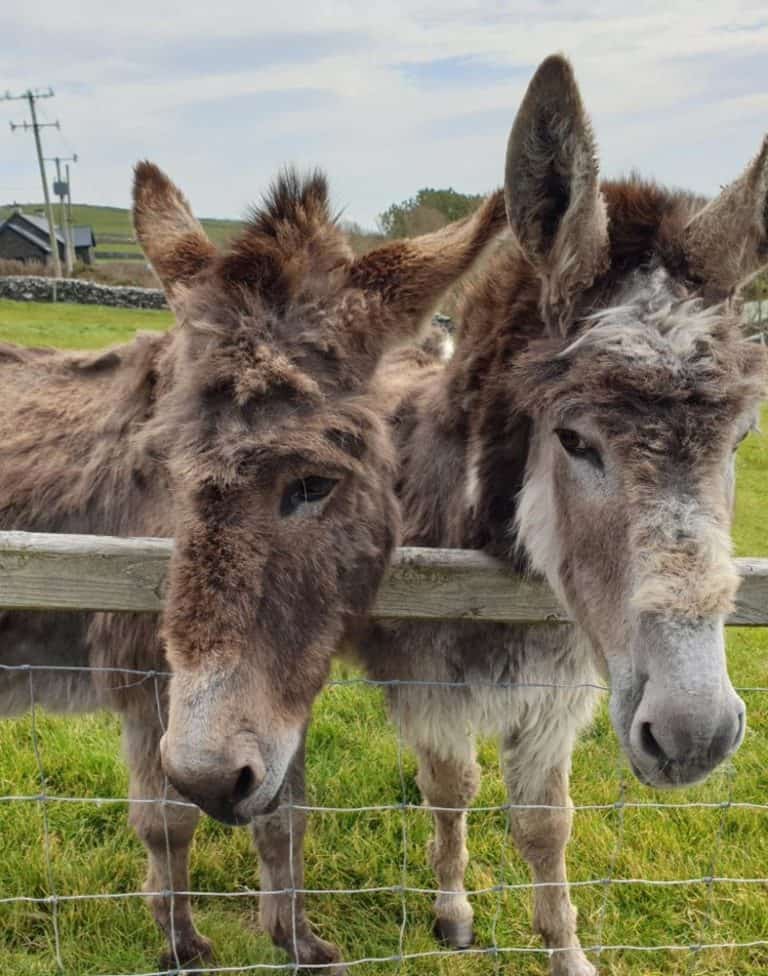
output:
[{"label": "nose of the darker brown donkey on the left", "polygon": [[240,815],[238,808],[264,779],[262,764],[255,759],[233,763],[224,757],[181,757],[168,749],[163,751],[163,769],[182,796],[233,826],[248,822],[249,817]]}]

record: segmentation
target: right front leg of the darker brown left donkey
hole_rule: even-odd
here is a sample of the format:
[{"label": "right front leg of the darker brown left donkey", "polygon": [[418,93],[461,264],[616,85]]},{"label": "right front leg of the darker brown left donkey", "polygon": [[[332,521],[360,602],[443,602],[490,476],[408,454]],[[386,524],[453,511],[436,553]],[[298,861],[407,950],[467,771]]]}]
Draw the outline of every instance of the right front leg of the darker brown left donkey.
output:
[{"label": "right front leg of the darker brown left donkey", "polygon": [[[312,931],[304,907],[304,834],[307,817],[291,809],[289,802],[303,803],[304,741],[296,753],[280,790],[280,806],[274,813],[257,817],[252,825],[253,839],[259,852],[262,894],[260,917],[262,928],[275,945],[284,949],[298,965],[339,963],[341,953],[330,942]],[[327,971],[327,970],[324,970]],[[337,976],[343,965],[331,970]]]}]

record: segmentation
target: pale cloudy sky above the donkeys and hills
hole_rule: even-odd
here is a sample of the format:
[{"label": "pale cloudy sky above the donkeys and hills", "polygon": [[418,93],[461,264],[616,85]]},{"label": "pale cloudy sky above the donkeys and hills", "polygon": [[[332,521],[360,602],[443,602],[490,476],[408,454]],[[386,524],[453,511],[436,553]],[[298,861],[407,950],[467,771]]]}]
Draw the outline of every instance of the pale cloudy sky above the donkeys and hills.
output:
[{"label": "pale cloudy sky above the donkeys and hills", "polygon": [[[373,227],[424,186],[486,192],[526,84],[572,61],[601,171],[712,194],[768,130],[765,0],[24,0],[0,9],[0,94],[38,103],[75,202],[127,206],[161,165],[200,216],[241,216],[281,166],[322,167]],[[0,202],[41,198],[31,133],[0,101]]]}]

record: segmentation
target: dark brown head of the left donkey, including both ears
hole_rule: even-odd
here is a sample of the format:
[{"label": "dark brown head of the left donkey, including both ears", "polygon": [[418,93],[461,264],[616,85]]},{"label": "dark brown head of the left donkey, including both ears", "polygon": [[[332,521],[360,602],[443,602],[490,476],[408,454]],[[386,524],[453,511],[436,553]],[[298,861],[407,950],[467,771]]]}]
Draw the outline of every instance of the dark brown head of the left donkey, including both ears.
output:
[{"label": "dark brown head of the left donkey, including both ears", "polygon": [[149,433],[175,519],[163,763],[207,812],[245,822],[276,802],[396,542],[369,379],[503,226],[503,201],[355,260],[319,174],[283,175],[221,254],[155,166],[137,167],[134,200],[179,326]]}]

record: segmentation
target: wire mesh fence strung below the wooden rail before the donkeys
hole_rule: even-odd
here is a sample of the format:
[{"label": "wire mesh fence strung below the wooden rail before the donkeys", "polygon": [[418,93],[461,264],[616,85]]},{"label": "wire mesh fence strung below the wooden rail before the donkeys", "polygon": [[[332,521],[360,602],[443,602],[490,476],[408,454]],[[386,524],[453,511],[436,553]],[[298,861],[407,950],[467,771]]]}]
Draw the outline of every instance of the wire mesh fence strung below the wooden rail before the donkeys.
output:
[{"label": "wire mesh fence strung below the wooden rail before the donkeys", "polygon": [[[42,832],[40,836],[40,843],[43,847],[44,857],[45,857],[45,872],[46,872],[46,885],[47,891],[45,894],[31,895],[31,894],[20,894],[20,895],[4,895],[0,892],[0,906],[9,905],[26,905],[30,908],[44,908],[50,916],[50,949],[52,958],[55,960],[55,966],[60,972],[68,972],[67,967],[67,946],[64,943],[61,927],[60,927],[60,913],[68,905],[75,903],[87,903],[87,902],[122,902],[130,901],[133,899],[146,898],[147,896],[155,896],[158,898],[166,898],[171,904],[171,925],[173,925],[173,900],[178,897],[192,897],[196,900],[201,899],[221,899],[227,901],[258,903],[258,901],[268,895],[285,895],[291,898],[292,905],[295,906],[296,898],[300,895],[307,896],[310,898],[324,899],[324,898],[339,898],[339,897],[361,897],[365,896],[367,898],[386,896],[389,899],[395,899],[399,902],[399,925],[397,930],[397,938],[394,944],[391,946],[388,952],[379,952],[377,954],[366,954],[366,955],[345,955],[345,965],[348,968],[359,968],[359,967],[370,967],[371,971],[374,969],[380,969],[386,971],[387,969],[393,969],[395,967],[400,967],[405,963],[417,963],[423,961],[425,966],[434,963],[437,965],[438,962],[445,962],[446,960],[452,959],[463,959],[468,960],[470,958],[476,958],[478,960],[488,960],[489,965],[498,966],[504,960],[520,959],[522,957],[528,957],[530,959],[537,960],[541,967],[541,971],[544,972],[547,969],[548,960],[558,953],[565,953],[569,950],[564,949],[547,949],[542,947],[541,944],[531,941],[527,944],[510,944],[507,942],[499,932],[499,922],[504,910],[503,899],[510,893],[528,893],[530,894],[536,888],[544,887],[558,887],[562,886],[562,882],[534,882],[534,881],[510,881],[507,877],[507,872],[505,870],[505,865],[503,863],[506,857],[506,848],[510,846],[509,844],[502,845],[502,855],[500,857],[500,863],[494,868],[495,878],[492,883],[485,884],[479,887],[469,886],[466,890],[466,895],[470,900],[474,901],[482,897],[493,897],[496,899],[495,907],[491,910],[490,918],[490,938],[486,944],[475,944],[469,948],[462,950],[453,950],[445,947],[439,946],[437,943],[434,948],[424,949],[424,948],[412,948],[408,944],[408,931],[409,931],[409,917],[412,912],[412,899],[424,899],[427,904],[431,904],[432,900],[440,894],[449,894],[448,891],[443,891],[438,886],[425,886],[423,884],[414,884],[410,878],[410,868],[411,864],[409,862],[409,849],[412,846],[409,843],[409,829],[410,829],[410,816],[415,814],[430,814],[439,811],[451,810],[456,811],[460,809],[465,811],[470,815],[470,818],[476,817],[481,814],[492,814],[499,817],[503,817],[505,821],[505,827],[503,828],[504,839],[508,840],[509,837],[509,813],[514,809],[532,809],[532,810],[552,810],[552,809],[562,809],[562,807],[551,806],[548,804],[510,804],[508,802],[500,802],[493,804],[473,804],[468,807],[440,807],[429,805],[425,803],[415,802],[412,797],[412,788],[406,782],[408,774],[405,769],[405,747],[403,745],[403,737],[401,734],[396,735],[397,746],[396,754],[394,757],[394,762],[396,764],[396,775],[395,779],[399,784],[398,793],[399,795],[393,796],[391,802],[385,803],[374,803],[374,804],[349,804],[349,805],[326,805],[311,802],[292,802],[291,798],[288,798],[285,804],[288,812],[288,822],[290,825],[290,839],[291,839],[291,866],[293,867],[293,857],[292,857],[292,847],[293,847],[293,816],[295,812],[301,812],[305,814],[322,814],[323,816],[334,816],[334,815],[348,815],[348,814],[390,814],[396,816],[400,820],[400,850],[398,852],[398,862],[399,862],[399,877],[396,883],[376,883],[376,879],[372,879],[373,883],[356,885],[350,887],[316,887],[316,886],[304,886],[301,884],[295,884],[292,878],[291,884],[287,887],[280,889],[270,889],[270,890],[259,890],[256,887],[239,887],[237,889],[219,889],[210,890],[207,888],[197,888],[192,887],[185,890],[170,891],[170,890],[114,890],[114,891],[93,891],[93,892],[69,892],[66,890],[60,890],[56,883],[55,876],[55,848],[56,845],[52,843],[52,830],[50,823],[50,811],[58,804],[121,804],[125,807],[131,804],[149,804],[159,807],[163,811],[163,817],[165,818],[165,812],[172,809],[174,806],[188,807],[192,804],[188,804],[185,801],[174,799],[168,796],[168,783],[166,781],[165,787],[161,795],[156,797],[148,798],[131,798],[129,796],[70,796],[62,795],[52,790],[49,786],[49,780],[46,775],[45,761],[43,752],[40,746],[40,737],[38,733],[38,715],[40,712],[40,705],[37,700],[35,692],[35,682],[39,680],[43,672],[56,672],[59,675],[62,673],[71,673],[73,671],[80,672],[91,672],[100,671],[108,672],[114,679],[119,681],[119,687],[121,688],[131,688],[137,687],[141,684],[150,683],[154,690],[155,700],[157,703],[157,718],[158,722],[162,724],[163,722],[163,709],[161,707],[161,685],[165,682],[169,674],[160,671],[139,671],[133,669],[120,669],[120,668],[69,668],[69,667],[56,667],[56,666],[32,666],[32,665],[17,665],[17,666],[0,666],[0,671],[2,672],[16,672],[20,675],[26,676],[28,682],[28,692],[29,692],[29,711],[31,715],[31,749],[34,754],[34,761],[37,767],[37,774],[39,779],[39,792],[37,793],[19,793],[12,794],[8,793],[6,795],[0,796],[0,804],[30,804],[34,805],[40,812],[41,816],[41,827]],[[395,694],[397,694],[398,688],[411,684],[411,682],[380,682],[372,681],[364,677],[349,677],[349,678],[334,678],[329,682],[331,689],[333,688],[359,688],[359,689],[377,689],[382,687],[393,688]],[[436,685],[440,687],[455,687],[455,688],[466,688],[467,684],[463,682],[418,682],[418,684],[429,684]],[[481,686],[486,683],[480,682]],[[492,684],[491,682],[487,683]],[[526,688],[532,687],[526,684],[500,684],[493,685],[494,687],[502,687],[507,689],[516,689],[521,692],[525,692]],[[534,685],[533,687],[541,687],[541,685]],[[562,688],[563,686],[552,686],[557,688]],[[579,687],[579,686],[573,686]],[[590,685],[590,687],[599,688],[601,691],[606,691],[607,689],[599,685]],[[740,693],[757,696],[764,695],[768,692],[768,687],[764,686],[747,686],[737,689]],[[398,730],[395,729],[397,732]],[[720,854],[725,843],[725,837],[727,833],[727,825],[729,817],[731,817],[734,811],[745,811],[749,812],[751,815],[756,817],[765,817],[768,813],[768,803],[755,802],[755,801],[742,801],[736,798],[734,792],[735,782],[734,776],[732,774],[725,777],[724,783],[721,783],[721,788],[723,789],[723,796],[719,799],[706,799],[706,800],[676,800],[673,797],[664,800],[657,800],[653,798],[649,799],[629,799],[626,796],[626,777],[623,772],[620,772],[618,776],[615,777],[616,784],[616,796],[615,799],[609,802],[581,802],[576,803],[573,810],[576,814],[576,826],[575,830],[578,833],[579,829],[579,815],[586,813],[598,813],[606,812],[611,813],[615,816],[615,829],[613,832],[613,850],[609,853],[607,857],[607,870],[601,876],[589,877],[589,878],[577,878],[576,880],[570,882],[570,888],[574,891],[579,890],[592,890],[599,893],[599,907],[595,913],[596,921],[593,926],[595,938],[593,939],[583,939],[584,951],[587,956],[592,959],[593,962],[600,964],[601,961],[606,961],[611,958],[611,954],[615,953],[673,953],[682,954],[687,960],[687,966],[685,971],[694,973],[697,971],[697,960],[700,958],[701,954],[709,950],[766,950],[766,958],[768,959],[768,933],[765,931],[756,930],[754,932],[754,938],[742,939],[742,940],[728,940],[728,939],[713,939],[708,938],[709,924],[708,922],[714,918],[715,907],[718,899],[718,890],[723,889],[727,886],[730,891],[733,886],[738,886],[741,888],[747,888],[755,892],[755,899],[765,899],[766,889],[768,887],[768,878],[765,876],[733,876],[730,873],[719,873],[718,863],[720,860]],[[712,811],[718,818],[718,825],[715,833],[714,841],[711,844],[711,849],[708,850],[708,869],[705,873],[689,876],[679,876],[679,877],[645,877],[645,876],[624,876],[619,873],[619,859],[620,856],[626,852],[628,846],[631,847],[633,841],[632,837],[627,835],[626,829],[626,814],[628,811],[660,811],[665,814],[671,814],[672,811],[689,811],[689,810],[708,810]],[[167,833],[167,821],[166,823],[166,856],[170,860],[172,856],[172,851],[170,843],[168,842]],[[127,830],[127,827],[126,827]],[[471,834],[470,834],[471,836]],[[765,872],[763,872],[763,875]],[[610,941],[604,939],[607,911],[609,900],[611,898],[612,892],[620,889],[644,889],[649,892],[658,889],[687,889],[687,890],[697,890],[701,891],[703,888],[707,893],[708,907],[707,911],[703,912],[703,917],[700,920],[700,936],[698,939],[686,941],[686,942],[656,942],[653,944],[643,944],[634,943],[631,940],[627,941]],[[652,902],[648,903],[652,906]],[[652,910],[652,907],[651,907]],[[294,910],[293,917],[293,940],[294,943],[297,940],[297,919],[296,912]],[[82,933],[84,938],[87,938],[87,932]],[[175,942],[174,942],[175,944]],[[343,949],[343,946],[342,946]],[[298,954],[298,950],[297,953]],[[180,963],[180,960],[177,960]],[[463,964],[462,964],[463,965]],[[178,967],[177,967],[178,968]],[[230,973],[230,972],[258,972],[258,971],[295,971],[298,968],[297,964],[294,962],[273,962],[273,961],[258,961],[258,960],[243,960],[242,963],[237,965],[217,965],[216,963],[207,963],[199,966],[192,965],[191,968],[187,967],[185,971],[192,973]],[[329,970],[331,967],[329,964],[303,964],[303,969],[317,968],[319,970]],[[130,970],[121,971],[118,973],[104,972],[100,973],[99,976],[164,976],[164,974],[169,972],[177,971],[175,968],[157,968],[157,969],[147,969],[147,970]],[[367,970],[366,970],[367,971]],[[447,971],[450,971],[447,970]],[[489,970],[490,971],[490,970]],[[676,970],[678,971],[678,970]],[[713,970],[705,970],[706,972],[711,972]],[[719,970],[714,970],[719,971]],[[723,970],[725,972],[726,970]]]}]

